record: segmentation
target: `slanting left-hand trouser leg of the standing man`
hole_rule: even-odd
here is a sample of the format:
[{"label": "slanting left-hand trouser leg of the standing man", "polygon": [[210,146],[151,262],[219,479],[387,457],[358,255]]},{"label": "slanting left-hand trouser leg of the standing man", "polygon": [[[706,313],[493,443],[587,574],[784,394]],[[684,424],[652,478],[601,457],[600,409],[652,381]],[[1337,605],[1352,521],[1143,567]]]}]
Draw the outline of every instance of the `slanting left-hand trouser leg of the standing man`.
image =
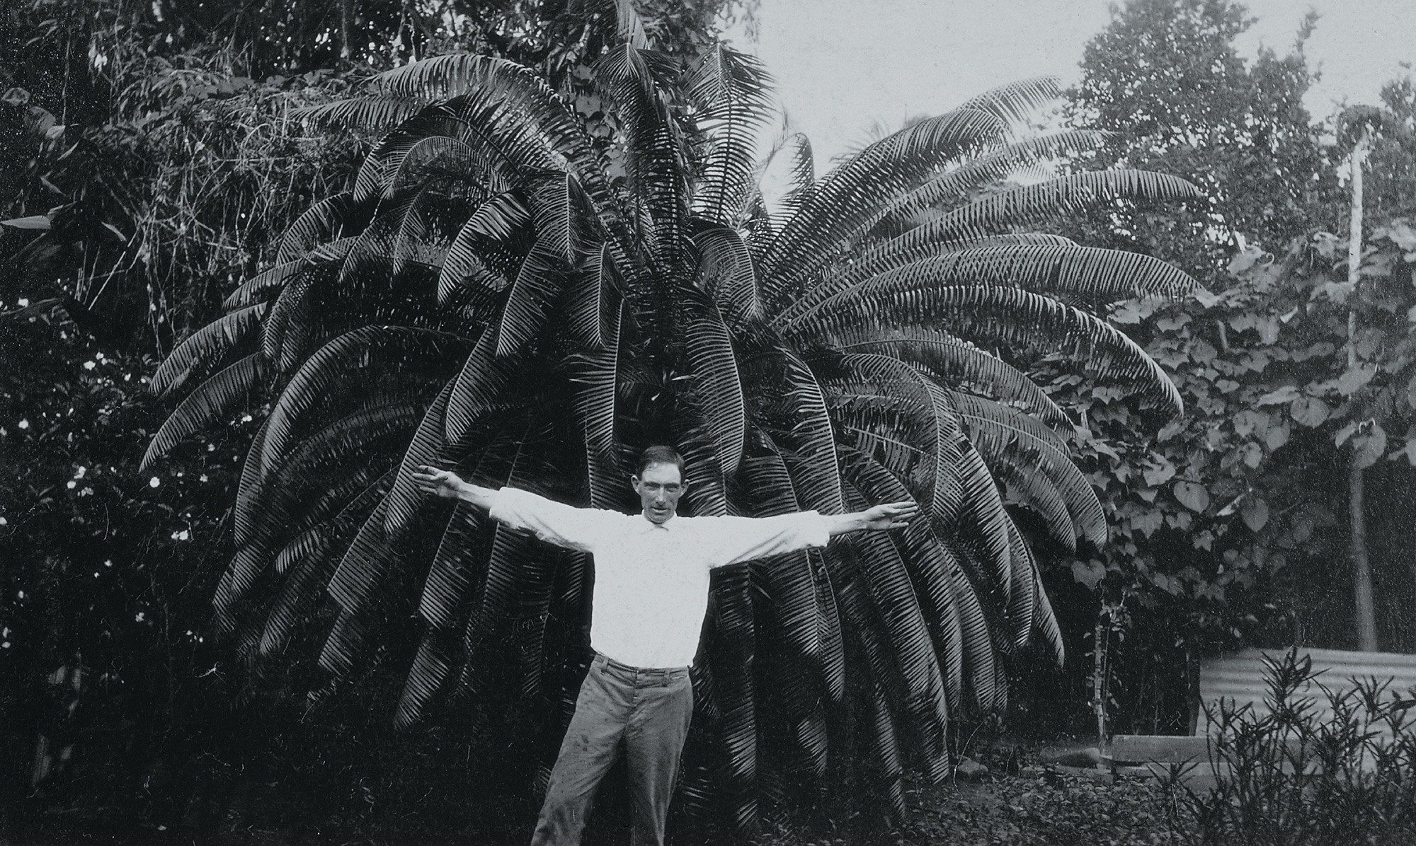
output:
[{"label": "slanting left-hand trouser leg of the standing man", "polygon": [[590,664],[551,770],[531,846],[576,846],[581,842],[595,791],[619,755],[633,697],[633,682],[624,685],[607,673],[602,658]]}]

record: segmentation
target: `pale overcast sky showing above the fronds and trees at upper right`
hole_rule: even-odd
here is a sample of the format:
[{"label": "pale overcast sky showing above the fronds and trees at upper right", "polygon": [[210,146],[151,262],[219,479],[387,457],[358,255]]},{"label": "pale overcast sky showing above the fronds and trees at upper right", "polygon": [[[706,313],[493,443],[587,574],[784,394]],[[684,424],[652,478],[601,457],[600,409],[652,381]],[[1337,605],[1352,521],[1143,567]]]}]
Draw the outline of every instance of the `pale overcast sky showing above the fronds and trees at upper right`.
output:
[{"label": "pale overcast sky showing above the fronds and trees at upper right", "polygon": [[[867,139],[1014,79],[1079,76],[1086,41],[1110,21],[1110,0],[760,0],[756,52],[777,79],[793,123],[818,167]],[[1381,85],[1416,61],[1416,0],[1252,0],[1257,17],[1239,42],[1286,54],[1308,8],[1308,41],[1323,79],[1308,93],[1315,117],[1334,103],[1375,103]]]}]

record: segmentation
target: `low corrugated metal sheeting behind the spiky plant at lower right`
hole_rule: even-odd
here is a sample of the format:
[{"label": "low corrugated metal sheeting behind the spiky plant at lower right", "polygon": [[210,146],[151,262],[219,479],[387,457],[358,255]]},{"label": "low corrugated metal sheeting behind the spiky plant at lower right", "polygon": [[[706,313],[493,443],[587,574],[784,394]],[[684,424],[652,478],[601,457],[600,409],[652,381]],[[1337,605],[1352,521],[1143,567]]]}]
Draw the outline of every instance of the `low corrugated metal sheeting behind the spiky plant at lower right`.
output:
[{"label": "low corrugated metal sheeting behind the spiky plant at lower right", "polygon": [[[1264,655],[1273,661],[1281,661],[1287,649],[1245,649],[1223,658],[1211,658],[1199,664],[1199,699],[1202,703],[1195,734],[1205,736],[1215,731],[1209,722],[1206,709],[1216,712],[1221,699],[1233,700],[1239,705],[1249,703],[1255,714],[1262,716],[1270,712],[1270,696],[1267,668]],[[1313,714],[1318,722],[1332,719],[1332,705],[1328,699],[1331,693],[1354,690],[1355,682],[1376,679],[1389,686],[1382,697],[1391,702],[1393,697],[1403,700],[1416,699],[1416,655],[1398,652],[1347,652],[1341,649],[1298,649],[1298,655],[1313,659],[1313,671],[1317,673],[1313,682],[1298,689],[1298,695],[1313,702]],[[1359,697],[1352,699],[1357,713],[1362,713]],[[1391,736],[1386,726],[1372,726],[1374,730]]]}]

